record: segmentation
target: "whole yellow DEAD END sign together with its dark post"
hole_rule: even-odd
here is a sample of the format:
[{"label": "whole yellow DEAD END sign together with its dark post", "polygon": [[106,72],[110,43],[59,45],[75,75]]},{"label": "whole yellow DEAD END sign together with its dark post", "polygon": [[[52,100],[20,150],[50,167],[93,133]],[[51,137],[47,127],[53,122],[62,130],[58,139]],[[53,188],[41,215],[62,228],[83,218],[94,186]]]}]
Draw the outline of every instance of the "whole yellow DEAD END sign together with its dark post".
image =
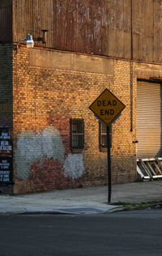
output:
[{"label": "whole yellow DEAD END sign together with its dark post", "polygon": [[108,184],[109,184],[109,196],[108,203],[111,202],[111,136],[110,136],[110,124],[117,120],[119,114],[125,109],[125,105],[122,101],[118,100],[108,89],[96,98],[96,100],[89,106],[89,109],[107,126],[107,149],[108,149]]}]

